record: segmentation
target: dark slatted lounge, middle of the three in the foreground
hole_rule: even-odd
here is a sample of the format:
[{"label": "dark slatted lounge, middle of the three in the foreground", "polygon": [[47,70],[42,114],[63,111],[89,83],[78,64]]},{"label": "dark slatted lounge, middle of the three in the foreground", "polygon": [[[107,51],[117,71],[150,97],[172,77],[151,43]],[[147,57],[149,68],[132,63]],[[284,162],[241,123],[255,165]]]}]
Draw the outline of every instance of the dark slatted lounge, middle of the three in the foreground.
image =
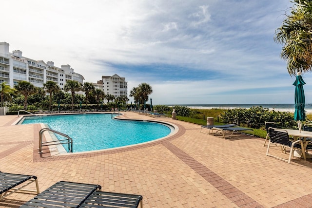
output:
[{"label": "dark slatted lounge, middle of the three in the foreground", "polygon": [[100,185],[59,181],[20,208],[78,208]]}]

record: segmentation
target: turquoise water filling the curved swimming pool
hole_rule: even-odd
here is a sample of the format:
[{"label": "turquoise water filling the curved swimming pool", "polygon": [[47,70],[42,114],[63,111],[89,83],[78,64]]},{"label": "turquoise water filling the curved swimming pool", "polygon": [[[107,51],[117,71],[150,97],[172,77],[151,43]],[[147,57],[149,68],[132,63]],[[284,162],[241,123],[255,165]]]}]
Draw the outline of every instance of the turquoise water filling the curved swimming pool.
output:
[{"label": "turquoise water filling the curved swimming pool", "polygon": [[[73,152],[143,143],[167,136],[171,132],[166,125],[112,119],[111,114],[107,113],[25,117],[22,124],[44,123],[49,128],[70,136],[73,139]],[[56,136],[59,138],[59,135]]]}]

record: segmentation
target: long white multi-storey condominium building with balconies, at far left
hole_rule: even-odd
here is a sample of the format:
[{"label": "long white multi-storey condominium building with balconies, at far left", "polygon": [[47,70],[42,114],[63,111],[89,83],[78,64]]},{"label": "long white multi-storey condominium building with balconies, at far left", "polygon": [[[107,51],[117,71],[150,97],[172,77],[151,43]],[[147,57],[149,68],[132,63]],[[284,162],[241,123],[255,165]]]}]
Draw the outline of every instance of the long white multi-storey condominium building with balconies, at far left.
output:
[{"label": "long white multi-storey condominium building with balconies, at far left", "polygon": [[9,52],[9,43],[0,42],[0,83],[7,82],[11,88],[19,81],[29,81],[36,87],[43,87],[47,81],[58,83],[64,89],[66,80],[83,83],[84,77],[74,73],[70,65],[54,66],[53,61],[34,60],[23,57],[20,50]]}]

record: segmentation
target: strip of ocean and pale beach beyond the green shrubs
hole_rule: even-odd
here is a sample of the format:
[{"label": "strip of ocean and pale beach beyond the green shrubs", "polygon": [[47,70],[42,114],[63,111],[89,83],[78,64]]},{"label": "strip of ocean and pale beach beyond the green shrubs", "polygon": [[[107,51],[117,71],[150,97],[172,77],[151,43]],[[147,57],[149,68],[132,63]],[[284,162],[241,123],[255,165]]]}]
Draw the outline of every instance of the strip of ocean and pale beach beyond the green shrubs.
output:
[{"label": "strip of ocean and pale beach beyond the green shrubs", "polygon": [[[176,106],[176,105],[168,105]],[[178,106],[187,106],[192,109],[235,109],[235,108],[251,108],[253,106],[262,106],[270,110],[294,112],[294,104],[178,104]],[[305,111],[312,112],[312,103],[305,104]]]}]

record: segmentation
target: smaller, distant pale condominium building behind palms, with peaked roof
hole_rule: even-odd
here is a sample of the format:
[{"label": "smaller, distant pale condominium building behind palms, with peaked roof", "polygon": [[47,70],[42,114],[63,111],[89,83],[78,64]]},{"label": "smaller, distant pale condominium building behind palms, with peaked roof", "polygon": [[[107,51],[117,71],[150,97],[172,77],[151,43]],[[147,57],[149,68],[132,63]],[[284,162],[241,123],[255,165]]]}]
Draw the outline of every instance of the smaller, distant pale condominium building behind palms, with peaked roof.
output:
[{"label": "smaller, distant pale condominium building behind palms, with peaked roof", "polygon": [[[96,88],[104,91],[105,95],[128,96],[128,82],[125,77],[118,76],[102,76],[102,79],[94,84]],[[107,100],[106,100],[107,101]]]}]

